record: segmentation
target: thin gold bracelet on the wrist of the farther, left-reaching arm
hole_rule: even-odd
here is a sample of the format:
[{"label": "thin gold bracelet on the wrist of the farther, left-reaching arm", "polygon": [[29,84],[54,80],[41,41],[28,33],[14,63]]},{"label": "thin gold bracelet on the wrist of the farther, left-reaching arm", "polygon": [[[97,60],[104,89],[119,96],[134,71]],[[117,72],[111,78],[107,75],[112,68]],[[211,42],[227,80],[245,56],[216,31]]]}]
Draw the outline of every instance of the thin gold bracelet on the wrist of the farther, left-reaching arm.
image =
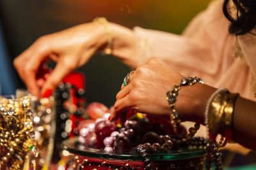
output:
[{"label": "thin gold bracelet on the wrist of the farther, left-reaching arm", "polygon": [[113,46],[113,35],[112,35],[112,30],[109,25],[108,20],[105,17],[97,17],[93,19],[93,22],[99,22],[106,27],[107,34],[108,34],[108,45],[106,49],[106,54],[110,55],[112,53],[112,46]]}]

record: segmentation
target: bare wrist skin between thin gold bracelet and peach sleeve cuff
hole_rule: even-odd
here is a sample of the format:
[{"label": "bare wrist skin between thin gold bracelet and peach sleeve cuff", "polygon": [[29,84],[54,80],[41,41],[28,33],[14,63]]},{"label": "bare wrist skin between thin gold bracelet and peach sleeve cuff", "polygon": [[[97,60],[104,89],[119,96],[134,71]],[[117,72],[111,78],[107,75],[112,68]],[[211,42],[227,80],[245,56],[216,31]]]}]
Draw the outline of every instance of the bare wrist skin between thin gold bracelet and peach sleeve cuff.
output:
[{"label": "bare wrist skin between thin gold bracelet and peach sleeve cuff", "polygon": [[127,66],[138,67],[138,56],[136,53],[136,36],[131,29],[122,25],[110,23],[113,35],[112,54],[122,60]]}]

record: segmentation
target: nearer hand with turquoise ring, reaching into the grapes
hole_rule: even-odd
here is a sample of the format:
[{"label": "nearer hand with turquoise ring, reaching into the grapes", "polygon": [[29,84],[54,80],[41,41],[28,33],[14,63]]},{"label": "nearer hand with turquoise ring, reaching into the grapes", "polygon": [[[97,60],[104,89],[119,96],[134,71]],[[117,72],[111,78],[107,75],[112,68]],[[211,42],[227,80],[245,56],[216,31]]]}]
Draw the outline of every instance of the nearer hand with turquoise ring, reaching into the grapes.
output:
[{"label": "nearer hand with turquoise ring, reaching into the grapes", "polygon": [[122,85],[116,95],[116,103],[111,113],[111,121],[120,118],[124,123],[130,108],[140,113],[170,118],[170,106],[166,92],[180,82],[183,76],[167,66],[162,60],[152,58],[137,67],[129,85]]}]

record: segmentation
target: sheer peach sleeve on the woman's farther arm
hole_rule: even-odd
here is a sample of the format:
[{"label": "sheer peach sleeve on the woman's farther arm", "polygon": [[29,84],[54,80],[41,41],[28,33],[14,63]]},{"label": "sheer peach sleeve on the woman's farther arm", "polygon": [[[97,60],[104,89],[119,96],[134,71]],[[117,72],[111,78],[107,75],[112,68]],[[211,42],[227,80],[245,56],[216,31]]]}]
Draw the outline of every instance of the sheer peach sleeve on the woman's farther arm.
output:
[{"label": "sheer peach sleeve on the woman's farther arm", "polygon": [[213,87],[227,87],[254,99],[250,68],[235,57],[236,37],[228,34],[229,22],[222,13],[222,5],[223,1],[213,1],[182,35],[134,27],[138,65],[159,57],[184,76],[200,76]]}]

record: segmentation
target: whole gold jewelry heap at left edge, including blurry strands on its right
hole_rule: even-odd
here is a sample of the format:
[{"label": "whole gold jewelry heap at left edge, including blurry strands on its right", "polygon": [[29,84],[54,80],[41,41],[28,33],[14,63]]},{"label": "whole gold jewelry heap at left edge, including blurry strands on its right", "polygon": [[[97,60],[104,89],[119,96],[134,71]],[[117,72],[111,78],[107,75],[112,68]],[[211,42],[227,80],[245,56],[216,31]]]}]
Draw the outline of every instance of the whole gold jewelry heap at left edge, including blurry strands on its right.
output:
[{"label": "whole gold jewelry heap at left edge, including blurry strands on its right", "polygon": [[50,99],[0,97],[0,169],[47,169],[52,118]]}]

